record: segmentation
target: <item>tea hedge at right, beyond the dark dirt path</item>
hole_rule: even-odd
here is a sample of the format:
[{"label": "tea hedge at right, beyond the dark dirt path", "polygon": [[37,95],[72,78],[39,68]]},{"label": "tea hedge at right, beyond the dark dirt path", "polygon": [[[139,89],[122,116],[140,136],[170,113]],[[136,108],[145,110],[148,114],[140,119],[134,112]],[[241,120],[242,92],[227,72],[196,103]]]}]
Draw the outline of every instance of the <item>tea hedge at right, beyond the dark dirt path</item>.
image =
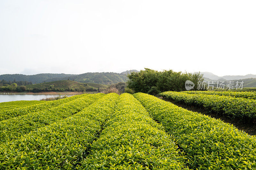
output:
[{"label": "tea hedge at right, beyond the dark dirt path", "polygon": [[216,113],[223,113],[240,121],[250,122],[256,117],[256,101],[239,97],[187,94],[181,92],[167,91],[160,94],[166,98],[188,105],[197,105]]}]

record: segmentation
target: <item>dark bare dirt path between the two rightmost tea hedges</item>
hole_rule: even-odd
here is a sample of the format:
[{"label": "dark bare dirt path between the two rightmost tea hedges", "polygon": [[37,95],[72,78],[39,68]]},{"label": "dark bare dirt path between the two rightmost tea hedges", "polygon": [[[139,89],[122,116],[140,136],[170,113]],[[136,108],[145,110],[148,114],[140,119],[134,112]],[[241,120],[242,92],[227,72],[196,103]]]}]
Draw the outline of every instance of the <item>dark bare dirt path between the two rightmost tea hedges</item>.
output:
[{"label": "dark bare dirt path between the two rightmost tea hedges", "polygon": [[241,122],[238,122],[237,120],[233,120],[233,119],[230,119],[230,118],[225,117],[225,116],[220,116],[220,115],[216,115],[214,113],[211,113],[209,110],[206,110],[204,108],[198,108],[198,107],[191,106],[191,105],[188,106],[188,105],[185,105],[183,103],[177,103],[172,99],[167,99],[167,98],[163,98],[163,97],[159,97],[159,98],[164,100],[164,101],[171,102],[171,103],[173,103],[177,106],[180,106],[184,109],[194,111],[194,112],[198,112],[198,113],[210,116],[210,117],[215,118],[215,119],[220,119],[225,123],[233,124],[237,129],[243,130],[246,133],[248,133],[249,135],[256,135],[256,120],[254,120],[252,124],[241,123]]}]

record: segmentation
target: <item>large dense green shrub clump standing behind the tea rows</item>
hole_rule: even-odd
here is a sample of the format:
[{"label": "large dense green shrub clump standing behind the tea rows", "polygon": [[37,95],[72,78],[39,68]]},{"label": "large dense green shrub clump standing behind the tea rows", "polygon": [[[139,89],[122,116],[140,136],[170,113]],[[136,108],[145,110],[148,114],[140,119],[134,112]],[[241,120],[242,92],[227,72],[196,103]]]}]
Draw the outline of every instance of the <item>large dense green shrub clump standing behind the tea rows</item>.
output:
[{"label": "large dense green shrub clump standing behind the tea rows", "polygon": [[203,81],[203,74],[200,73],[182,73],[172,70],[164,70],[162,72],[145,68],[139,73],[132,72],[127,75],[129,80],[128,88],[135,92],[143,92],[148,94],[157,94],[164,91],[184,91],[185,82],[190,80],[194,82],[197,88],[197,82]]}]

